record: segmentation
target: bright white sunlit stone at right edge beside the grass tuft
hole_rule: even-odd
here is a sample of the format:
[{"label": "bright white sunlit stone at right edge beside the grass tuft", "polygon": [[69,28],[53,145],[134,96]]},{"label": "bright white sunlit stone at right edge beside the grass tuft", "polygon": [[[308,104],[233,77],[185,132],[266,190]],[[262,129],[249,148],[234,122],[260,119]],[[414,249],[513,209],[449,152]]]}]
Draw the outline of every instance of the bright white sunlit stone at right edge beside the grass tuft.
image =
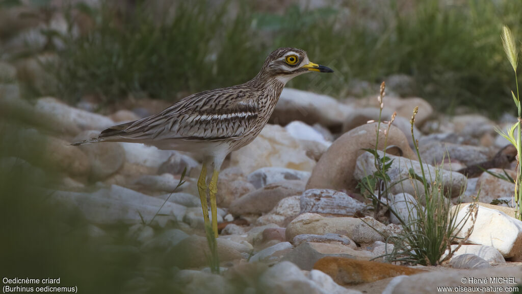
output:
[{"label": "bright white sunlit stone at right edge beside the grass tuft", "polygon": [[[462,221],[471,204],[460,209],[456,223]],[[468,242],[495,247],[505,258],[522,256],[522,221],[507,216],[499,210],[478,207],[477,220]],[[458,238],[464,238],[472,223],[469,219],[461,226]]]}]

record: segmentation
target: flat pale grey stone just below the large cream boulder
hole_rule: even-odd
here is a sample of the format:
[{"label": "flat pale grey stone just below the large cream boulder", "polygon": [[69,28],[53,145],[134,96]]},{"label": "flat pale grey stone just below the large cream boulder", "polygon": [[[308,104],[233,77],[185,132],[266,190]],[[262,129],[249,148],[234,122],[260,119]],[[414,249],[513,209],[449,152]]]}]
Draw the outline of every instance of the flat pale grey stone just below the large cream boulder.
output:
[{"label": "flat pale grey stone just below the large cream boulder", "polygon": [[270,166],[262,167],[257,171],[248,175],[248,182],[250,182],[256,189],[263,188],[266,185],[281,182],[282,180],[308,180],[310,172],[298,171],[296,169]]}]

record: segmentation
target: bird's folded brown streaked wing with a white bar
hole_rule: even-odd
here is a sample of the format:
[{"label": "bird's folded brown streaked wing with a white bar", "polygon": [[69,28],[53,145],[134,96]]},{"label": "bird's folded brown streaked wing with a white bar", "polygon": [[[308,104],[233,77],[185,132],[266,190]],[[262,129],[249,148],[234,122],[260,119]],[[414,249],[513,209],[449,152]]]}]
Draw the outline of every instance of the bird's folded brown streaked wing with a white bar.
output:
[{"label": "bird's folded brown streaked wing with a white bar", "polygon": [[100,134],[117,140],[220,140],[247,133],[258,116],[254,94],[230,88],[188,96],[160,113],[123,123]]}]

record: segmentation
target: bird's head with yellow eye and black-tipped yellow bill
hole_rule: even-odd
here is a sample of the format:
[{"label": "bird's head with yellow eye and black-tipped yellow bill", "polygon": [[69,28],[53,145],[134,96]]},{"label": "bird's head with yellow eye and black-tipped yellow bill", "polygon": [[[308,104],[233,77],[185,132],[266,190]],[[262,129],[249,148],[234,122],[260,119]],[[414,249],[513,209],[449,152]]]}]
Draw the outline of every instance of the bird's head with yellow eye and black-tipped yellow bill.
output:
[{"label": "bird's head with yellow eye and black-tipped yellow bill", "polygon": [[334,71],[324,65],[310,62],[304,50],[279,48],[268,55],[261,72],[287,83],[293,77],[307,72],[333,73]]}]

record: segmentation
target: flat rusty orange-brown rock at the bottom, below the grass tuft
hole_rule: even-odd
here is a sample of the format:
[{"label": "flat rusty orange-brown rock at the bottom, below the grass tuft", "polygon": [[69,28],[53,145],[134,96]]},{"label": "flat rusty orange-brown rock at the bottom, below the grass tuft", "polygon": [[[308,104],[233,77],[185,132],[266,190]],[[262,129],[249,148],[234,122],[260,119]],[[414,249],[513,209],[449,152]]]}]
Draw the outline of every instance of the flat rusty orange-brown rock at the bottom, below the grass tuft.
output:
[{"label": "flat rusty orange-brown rock at the bottom, below the grass tuft", "polygon": [[361,284],[389,277],[414,275],[425,272],[407,266],[360,261],[345,257],[327,256],[319,259],[314,269],[329,275],[340,285]]}]

